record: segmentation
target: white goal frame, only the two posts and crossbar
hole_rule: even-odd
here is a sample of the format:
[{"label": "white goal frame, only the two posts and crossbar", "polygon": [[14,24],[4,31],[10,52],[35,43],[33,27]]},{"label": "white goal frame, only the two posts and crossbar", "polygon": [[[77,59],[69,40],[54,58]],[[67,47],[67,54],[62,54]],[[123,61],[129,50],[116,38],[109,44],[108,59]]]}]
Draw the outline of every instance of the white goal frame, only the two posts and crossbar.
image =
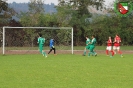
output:
[{"label": "white goal frame, only the two posts and crossbar", "polygon": [[70,29],[71,30],[71,53],[73,54],[73,28],[72,27],[9,27],[9,26],[4,26],[3,27],[3,39],[2,39],[2,42],[3,42],[3,45],[2,45],[2,52],[3,52],[3,55],[5,55],[5,36],[8,36],[5,34],[5,32],[7,31],[6,29]]}]

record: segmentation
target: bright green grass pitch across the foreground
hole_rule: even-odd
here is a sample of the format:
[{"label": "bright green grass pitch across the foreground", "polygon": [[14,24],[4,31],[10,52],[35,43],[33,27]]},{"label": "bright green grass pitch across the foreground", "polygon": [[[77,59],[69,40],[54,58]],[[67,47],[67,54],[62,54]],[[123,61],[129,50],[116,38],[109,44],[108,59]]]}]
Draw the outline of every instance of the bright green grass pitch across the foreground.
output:
[{"label": "bright green grass pitch across the foreground", "polygon": [[0,56],[0,88],[133,88],[133,55]]}]

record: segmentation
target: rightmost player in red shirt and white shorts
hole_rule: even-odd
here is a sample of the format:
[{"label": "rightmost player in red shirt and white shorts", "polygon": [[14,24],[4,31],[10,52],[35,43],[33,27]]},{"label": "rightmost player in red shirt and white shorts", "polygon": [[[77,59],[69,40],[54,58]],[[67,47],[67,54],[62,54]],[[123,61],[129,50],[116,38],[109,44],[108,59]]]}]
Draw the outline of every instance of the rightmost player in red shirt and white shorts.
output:
[{"label": "rightmost player in red shirt and white shorts", "polygon": [[123,57],[122,52],[120,51],[120,43],[121,43],[121,38],[116,34],[114,38],[113,51],[116,54],[116,50],[117,50],[117,52],[121,55],[121,57]]}]

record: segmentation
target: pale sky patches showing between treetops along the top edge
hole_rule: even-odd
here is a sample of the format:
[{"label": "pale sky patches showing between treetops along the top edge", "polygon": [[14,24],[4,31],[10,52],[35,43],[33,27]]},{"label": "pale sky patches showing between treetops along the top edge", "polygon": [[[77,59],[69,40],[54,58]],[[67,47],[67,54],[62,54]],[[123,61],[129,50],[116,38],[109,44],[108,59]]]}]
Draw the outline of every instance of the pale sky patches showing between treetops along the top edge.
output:
[{"label": "pale sky patches showing between treetops along the top edge", "polygon": [[[3,1],[7,1],[8,3],[12,3],[12,2],[16,2],[16,3],[27,3],[30,0],[3,0]],[[58,0],[43,0],[45,4],[51,4],[54,3],[55,5],[58,4]],[[111,2],[113,2],[114,0],[105,0],[105,4],[109,5]]]}]

